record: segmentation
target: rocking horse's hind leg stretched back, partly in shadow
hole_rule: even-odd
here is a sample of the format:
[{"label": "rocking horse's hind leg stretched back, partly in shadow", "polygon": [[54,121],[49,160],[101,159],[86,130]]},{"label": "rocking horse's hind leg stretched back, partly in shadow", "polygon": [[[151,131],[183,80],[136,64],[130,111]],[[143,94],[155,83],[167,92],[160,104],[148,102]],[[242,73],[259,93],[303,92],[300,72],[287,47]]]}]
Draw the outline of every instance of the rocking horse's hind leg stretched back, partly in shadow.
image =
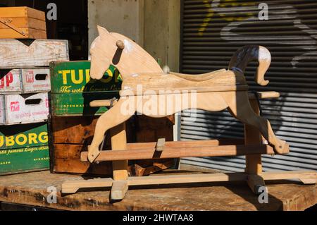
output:
[{"label": "rocking horse's hind leg stretched back, partly in shadow", "polygon": [[[284,140],[277,138],[272,130],[271,123],[262,116],[257,115],[251,107],[247,92],[235,92],[228,101],[229,111],[239,121],[249,126],[258,128],[266,140],[273,145],[275,152],[283,154],[287,152],[288,145]],[[227,96],[228,99],[228,96]]]}]

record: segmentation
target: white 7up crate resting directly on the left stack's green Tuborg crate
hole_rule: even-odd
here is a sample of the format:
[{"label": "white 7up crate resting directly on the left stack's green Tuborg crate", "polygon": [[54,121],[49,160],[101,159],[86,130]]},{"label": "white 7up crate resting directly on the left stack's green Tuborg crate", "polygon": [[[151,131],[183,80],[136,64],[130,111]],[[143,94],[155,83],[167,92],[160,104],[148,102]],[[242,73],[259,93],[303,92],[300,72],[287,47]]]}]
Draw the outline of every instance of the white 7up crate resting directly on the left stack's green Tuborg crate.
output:
[{"label": "white 7up crate resting directly on the left stack's green Tuborg crate", "polygon": [[0,95],[0,125],[47,121],[48,102],[48,93]]}]

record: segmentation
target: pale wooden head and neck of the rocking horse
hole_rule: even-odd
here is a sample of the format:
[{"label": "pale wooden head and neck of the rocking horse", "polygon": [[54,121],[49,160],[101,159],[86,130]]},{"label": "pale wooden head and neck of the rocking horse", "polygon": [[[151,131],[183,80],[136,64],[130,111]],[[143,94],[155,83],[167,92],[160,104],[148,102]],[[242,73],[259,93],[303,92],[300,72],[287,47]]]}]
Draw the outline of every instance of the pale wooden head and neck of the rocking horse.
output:
[{"label": "pale wooden head and neck of the rocking horse", "polygon": [[97,37],[90,48],[92,79],[100,80],[108,67],[116,66],[123,76],[135,73],[163,73],[159,64],[147,51],[128,37],[108,32],[98,26]]}]

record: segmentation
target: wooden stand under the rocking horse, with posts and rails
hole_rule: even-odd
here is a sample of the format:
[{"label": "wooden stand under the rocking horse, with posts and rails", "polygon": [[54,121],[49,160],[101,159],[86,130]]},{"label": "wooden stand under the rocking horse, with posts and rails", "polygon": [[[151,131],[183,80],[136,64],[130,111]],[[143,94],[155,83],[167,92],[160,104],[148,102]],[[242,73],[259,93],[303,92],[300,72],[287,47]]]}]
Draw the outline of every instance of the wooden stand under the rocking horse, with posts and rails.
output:
[{"label": "wooden stand under the rocking horse, with posts and rails", "polygon": [[[258,94],[259,98],[279,97],[277,92]],[[259,114],[259,102],[255,95],[250,95],[250,103]],[[100,102],[99,102],[100,104]],[[108,102],[104,102],[108,106]],[[218,140],[196,142],[164,142],[127,144],[125,123],[111,129],[112,151],[101,152],[97,161],[113,161],[113,178],[95,178],[83,181],[67,181],[63,183],[61,193],[73,194],[81,188],[111,187],[111,199],[123,200],[129,186],[166,185],[180,183],[211,183],[220,181],[247,181],[249,188],[256,195],[263,192],[265,181],[298,179],[304,184],[317,182],[316,171],[270,171],[262,172],[261,154],[274,154],[273,148],[262,145],[259,130],[244,126],[244,144],[228,142],[230,145],[219,145]],[[187,145],[187,146],[185,146]],[[189,147],[189,150],[187,150]],[[195,151],[190,150],[196,149]],[[122,154],[119,154],[122,151]],[[285,152],[285,154],[287,154]],[[128,159],[160,159],[164,157],[195,157],[195,156],[232,156],[246,155],[244,173],[220,174],[186,174],[164,176],[128,176]],[[82,152],[82,161],[87,162],[87,152]]]}]

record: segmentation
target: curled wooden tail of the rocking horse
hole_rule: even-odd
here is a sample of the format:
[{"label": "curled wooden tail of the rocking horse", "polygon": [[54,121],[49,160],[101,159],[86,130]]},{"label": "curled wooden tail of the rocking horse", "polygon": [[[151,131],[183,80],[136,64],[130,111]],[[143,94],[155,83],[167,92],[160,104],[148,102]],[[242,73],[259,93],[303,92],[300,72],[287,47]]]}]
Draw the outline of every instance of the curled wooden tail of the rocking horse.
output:
[{"label": "curled wooden tail of the rocking horse", "polygon": [[250,61],[259,61],[259,66],[256,69],[255,80],[259,85],[268,85],[268,80],[264,79],[264,75],[271,64],[271,53],[265,47],[259,45],[247,45],[238,49],[232,56],[229,63],[231,71],[239,71],[244,73]]}]

